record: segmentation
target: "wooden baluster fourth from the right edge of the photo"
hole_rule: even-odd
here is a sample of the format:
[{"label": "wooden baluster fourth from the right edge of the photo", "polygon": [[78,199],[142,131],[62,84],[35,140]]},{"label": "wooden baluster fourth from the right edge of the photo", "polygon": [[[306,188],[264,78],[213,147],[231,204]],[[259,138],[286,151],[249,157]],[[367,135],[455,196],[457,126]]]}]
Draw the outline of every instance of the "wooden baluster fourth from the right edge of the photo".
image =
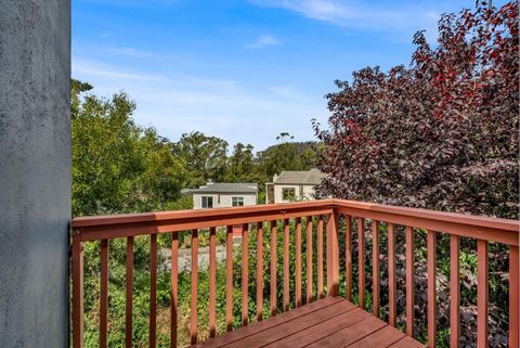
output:
[{"label": "wooden baluster fourth from the right edge of the photo", "polygon": [[437,235],[434,231],[428,231],[427,257],[428,257],[428,347],[435,347],[437,336]]}]

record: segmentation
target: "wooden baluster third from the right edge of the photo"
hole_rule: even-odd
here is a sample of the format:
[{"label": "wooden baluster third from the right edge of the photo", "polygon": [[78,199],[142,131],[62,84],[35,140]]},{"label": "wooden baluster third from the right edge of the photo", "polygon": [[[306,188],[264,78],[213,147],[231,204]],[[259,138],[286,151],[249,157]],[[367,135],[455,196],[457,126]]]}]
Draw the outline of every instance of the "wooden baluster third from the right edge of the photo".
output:
[{"label": "wooden baluster third from the right edge of the photo", "polygon": [[460,237],[450,235],[450,347],[458,348],[460,336]]}]

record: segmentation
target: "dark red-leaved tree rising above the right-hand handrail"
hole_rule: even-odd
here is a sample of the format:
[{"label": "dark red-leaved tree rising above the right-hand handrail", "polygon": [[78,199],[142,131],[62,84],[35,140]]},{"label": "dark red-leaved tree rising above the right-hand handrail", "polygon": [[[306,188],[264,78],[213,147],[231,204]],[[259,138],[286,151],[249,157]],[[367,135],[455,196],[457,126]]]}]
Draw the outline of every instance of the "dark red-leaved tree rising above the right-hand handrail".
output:
[{"label": "dark red-leaved tree rising above the right-hand handrail", "polygon": [[445,14],[410,68],[367,67],[327,95],[318,190],[349,199],[518,218],[518,1]]}]

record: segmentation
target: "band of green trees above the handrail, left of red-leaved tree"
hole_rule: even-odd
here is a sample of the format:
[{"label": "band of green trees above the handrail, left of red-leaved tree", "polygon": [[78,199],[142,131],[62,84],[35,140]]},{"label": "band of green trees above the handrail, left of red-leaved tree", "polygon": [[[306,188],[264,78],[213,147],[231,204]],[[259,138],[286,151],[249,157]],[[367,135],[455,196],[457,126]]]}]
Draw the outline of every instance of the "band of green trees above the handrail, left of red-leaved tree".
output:
[{"label": "band of green trees above the handrail, left of red-leaved tree", "polygon": [[[172,142],[132,119],[135,103],[123,92],[110,99],[90,93],[92,86],[72,80],[73,215],[100,215],[190,208],[183,188],[214,182],[264,183],[282,170],[308,170],[316,143],[289,142],[253,153],[237,143],[194,131]],[[273,139],[274,141],[274,139]]]}]

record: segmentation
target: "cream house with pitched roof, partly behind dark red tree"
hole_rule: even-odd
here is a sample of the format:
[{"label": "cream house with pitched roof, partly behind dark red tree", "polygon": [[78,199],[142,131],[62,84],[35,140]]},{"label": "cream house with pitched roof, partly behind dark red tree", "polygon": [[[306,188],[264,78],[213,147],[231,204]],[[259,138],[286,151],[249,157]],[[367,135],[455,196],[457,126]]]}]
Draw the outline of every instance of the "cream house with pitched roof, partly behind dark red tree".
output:
[{"label": "cream house with pitched roof, partly behind dark red tree", "polygon": [[314,186],[325,175],[317,169],[308,171],[282,171],[265,184],[265,203],[287,203],[314,199]]}]

